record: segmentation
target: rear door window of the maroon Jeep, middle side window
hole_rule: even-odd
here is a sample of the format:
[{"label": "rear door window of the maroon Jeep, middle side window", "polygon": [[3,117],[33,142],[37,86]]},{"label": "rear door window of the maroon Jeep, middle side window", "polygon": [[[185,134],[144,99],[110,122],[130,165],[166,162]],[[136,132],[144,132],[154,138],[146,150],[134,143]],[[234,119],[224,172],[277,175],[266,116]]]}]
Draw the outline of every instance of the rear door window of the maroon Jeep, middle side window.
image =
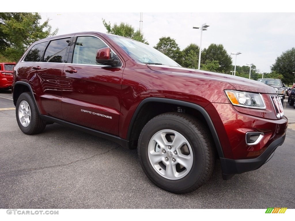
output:
[{"label": "rear door window of the maroon Jeep, middle side window", "polygon": [[65,53],[69,44],[68,42],[70,42],[70,38],[51,41],[45,51],[43,62],[66,63]]}]

